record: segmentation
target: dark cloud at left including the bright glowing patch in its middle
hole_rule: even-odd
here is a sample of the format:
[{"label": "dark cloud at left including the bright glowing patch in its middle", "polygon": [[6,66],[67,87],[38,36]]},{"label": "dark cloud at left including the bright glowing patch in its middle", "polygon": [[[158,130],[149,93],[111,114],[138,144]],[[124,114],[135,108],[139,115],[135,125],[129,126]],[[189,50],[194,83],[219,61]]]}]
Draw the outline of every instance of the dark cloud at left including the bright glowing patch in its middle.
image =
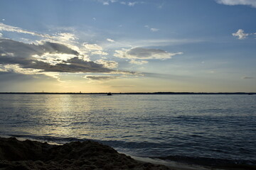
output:
[{"label": "dark cloud at left including the bright glowing patch in its middle", "polygon": [[[1,72],[113,72],[114,70],[80,58],[79,52],[53,42],[26,44],[0,39]],[[11,71],[14,70],[14,71]],[[21,71],[19,71],[21,70]]]}]

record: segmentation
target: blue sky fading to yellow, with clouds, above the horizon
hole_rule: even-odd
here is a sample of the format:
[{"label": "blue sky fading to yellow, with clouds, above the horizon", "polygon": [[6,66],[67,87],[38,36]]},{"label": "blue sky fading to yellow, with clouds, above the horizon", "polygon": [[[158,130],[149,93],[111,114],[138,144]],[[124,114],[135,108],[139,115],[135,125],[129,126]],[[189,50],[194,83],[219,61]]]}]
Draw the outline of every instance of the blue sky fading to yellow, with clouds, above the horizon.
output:
[{"label": "blue sky fading to yellow, with clouds, above the horizon", "polygon": [[256,92],[255,0],[1,0],[0,92]]}]

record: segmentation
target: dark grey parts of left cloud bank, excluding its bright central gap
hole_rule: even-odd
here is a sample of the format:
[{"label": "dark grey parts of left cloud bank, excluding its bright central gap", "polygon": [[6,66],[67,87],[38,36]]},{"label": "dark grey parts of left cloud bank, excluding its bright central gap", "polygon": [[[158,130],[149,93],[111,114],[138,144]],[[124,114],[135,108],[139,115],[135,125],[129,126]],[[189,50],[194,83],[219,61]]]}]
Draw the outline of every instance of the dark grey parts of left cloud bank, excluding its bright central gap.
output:
[{"label": "dark grey parts of left cloud bank, excluding its bright central gap", "polygon": [[[75,57],[69,60],[62,60],[58,64],[49,64],[38,60],[33,55],[43,54],[67,54]],[[0,38],[0,64],[19,64],[27,69],[42,69],[43,72],[112,72],[112,69],[105,68],[102,64],[88,62],[80,59],[79,52],[62,44],[55,42],[43,42],[41,45],[26,44],[9,39]]]}]

